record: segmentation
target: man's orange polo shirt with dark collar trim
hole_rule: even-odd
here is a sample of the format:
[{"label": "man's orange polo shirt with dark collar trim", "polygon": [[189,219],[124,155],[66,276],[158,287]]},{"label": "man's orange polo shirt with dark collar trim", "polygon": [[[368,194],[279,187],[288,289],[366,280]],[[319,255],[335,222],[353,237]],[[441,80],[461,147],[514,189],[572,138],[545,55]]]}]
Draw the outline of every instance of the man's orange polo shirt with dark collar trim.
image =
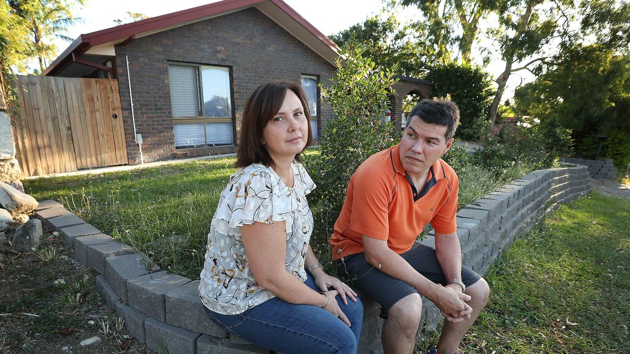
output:
[{"label": "man's orange polo shirt with dark collar trim", "polygon": [[457,174],[442,159],[431,166],[427,183],[417,191],[406,176],[398,145],[377,152],[350,178],[330,239],[333,260],[362,253],[362,234],[387,240],[401,254],[429,222],[440,234],[455,232],[458,190]]}]

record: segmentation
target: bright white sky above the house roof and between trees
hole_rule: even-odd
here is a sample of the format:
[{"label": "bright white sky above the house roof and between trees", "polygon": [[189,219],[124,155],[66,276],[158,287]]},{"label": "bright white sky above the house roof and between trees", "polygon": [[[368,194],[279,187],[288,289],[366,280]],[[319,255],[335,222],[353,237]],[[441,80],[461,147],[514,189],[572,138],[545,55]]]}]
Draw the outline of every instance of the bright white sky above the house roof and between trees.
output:
[{"label": "bright white sky above the house roof and between trees", "polygon": [[[297,13],[301,14],[311,25],[315,26],[324,35],[331,35],[345,30],[352,25],[362,23],[368,16],[379,14],[383,8],[382,0],[284,0]],[[113,20],[123,19],[127,11],[146,14],[149,17],[161,14],[173,13],[183,9],[194,8],[204,4],[215,3],[213,0],[88,0],[83,9],[74,13],[75,17],[83,18],[83,23],[78,23],[69,28],[69,37],[77,38],[82,33],[104,30],[116,25]],[[159,4],[156,6],[156,3]],[[418,11],[406,10],[397,14],[401,21],[417,16]],[[70,43],[55,40],[58,53],[66,49]],[[485,43],[491,45],[490,43]],[[496,51],[493,51],[496,52]],[[35,66],[33,66],[35,67]],[[486,71],[497,77],[504,69],[505,64],[500,58],[492,58]],[[518,84],[533,81],[534,77],[526,71],[521,71],[510,76],[507,89],[503,98],[513,96],[513,91]]]}]

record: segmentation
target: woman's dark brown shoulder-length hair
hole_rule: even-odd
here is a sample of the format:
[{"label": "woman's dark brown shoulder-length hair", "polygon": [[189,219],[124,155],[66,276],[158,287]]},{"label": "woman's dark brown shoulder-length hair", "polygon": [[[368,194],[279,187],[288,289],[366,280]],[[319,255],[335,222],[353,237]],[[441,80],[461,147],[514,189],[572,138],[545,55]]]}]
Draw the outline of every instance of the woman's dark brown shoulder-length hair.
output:
[{"label": "woman's dark brown shoulder-length hair", "polygon": [[[254,163],[271,166],[273,163],[269,152],[263,145],[263,129],[282,107],[287,90],[293,91],[302,103],[304,115],[309,122],[309,132],[304,149],[311,145],[311,115],[309,114],[306,94],[304,94],[301,86],[289,81],[273,81],[262,84],[251,93],[245,103],[243,122],[241,123],[241,138],[236,151],[236,167],[246,167]],[[300,161],[300,154],[295,155],[295,159]]]}]

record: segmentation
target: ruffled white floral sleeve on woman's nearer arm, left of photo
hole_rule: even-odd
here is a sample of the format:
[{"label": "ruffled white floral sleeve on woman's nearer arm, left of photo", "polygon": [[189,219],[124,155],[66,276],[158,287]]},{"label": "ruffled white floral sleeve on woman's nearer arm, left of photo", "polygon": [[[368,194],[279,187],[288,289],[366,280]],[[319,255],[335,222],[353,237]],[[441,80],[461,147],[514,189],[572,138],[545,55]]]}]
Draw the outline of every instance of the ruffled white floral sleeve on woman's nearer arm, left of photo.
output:
[{"label": "ruffled white floral sleeve on woman's nearer arm, left of photo", "polygon": [[255,221],[286,221],[287,232],[293,225],[289,191],[265,168],[246,168],[232,176],[221,193],[213,226],[222,234],[241,239],[241,226]]}]

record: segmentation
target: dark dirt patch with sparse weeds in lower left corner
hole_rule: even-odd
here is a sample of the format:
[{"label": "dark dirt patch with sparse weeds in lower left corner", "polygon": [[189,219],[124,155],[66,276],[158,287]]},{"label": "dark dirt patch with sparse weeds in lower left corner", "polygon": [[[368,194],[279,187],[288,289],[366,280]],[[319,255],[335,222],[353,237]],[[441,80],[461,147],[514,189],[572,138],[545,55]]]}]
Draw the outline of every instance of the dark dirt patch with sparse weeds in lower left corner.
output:
[{"label": "dark dirt patch with sparse weeds in lower left corner", "polygon": [[60,235],[45,230],[31,253],[0,241],[0,353],[147,353],[96,293],[95,278]]}]

